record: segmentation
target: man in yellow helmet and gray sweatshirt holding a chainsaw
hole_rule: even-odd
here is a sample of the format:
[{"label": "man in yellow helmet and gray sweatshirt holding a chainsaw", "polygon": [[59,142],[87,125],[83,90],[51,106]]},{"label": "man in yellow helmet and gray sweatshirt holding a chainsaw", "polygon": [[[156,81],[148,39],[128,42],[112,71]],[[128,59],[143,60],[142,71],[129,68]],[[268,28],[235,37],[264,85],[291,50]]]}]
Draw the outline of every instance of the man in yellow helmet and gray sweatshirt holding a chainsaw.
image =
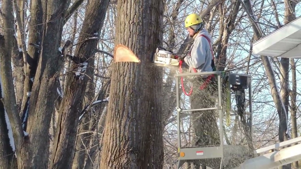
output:
[{"label": "man in yellow helmet and gray sweatshirt holding a chainsaw", "polygon": [[[189,72],[216,71],[214,65],[212,38],[204,28],[203,20],[198,14],[190,14],[185,19],[185,28],[194,39],[190,56],[179,57],[180,64],[185,62]],[[200,75],[193,79],[193,92],[190,96],[191,109],[214,107],[217,98],[214,75]],[[219,145],[219,130],[216,123],[217,114],[214,110],[191,112],[195,131],[195,146]],[[209,166],[213,169],[220,166],[220,159],[194,161],[195,168]],[[206,167],[205,167],[206,168]]]}]

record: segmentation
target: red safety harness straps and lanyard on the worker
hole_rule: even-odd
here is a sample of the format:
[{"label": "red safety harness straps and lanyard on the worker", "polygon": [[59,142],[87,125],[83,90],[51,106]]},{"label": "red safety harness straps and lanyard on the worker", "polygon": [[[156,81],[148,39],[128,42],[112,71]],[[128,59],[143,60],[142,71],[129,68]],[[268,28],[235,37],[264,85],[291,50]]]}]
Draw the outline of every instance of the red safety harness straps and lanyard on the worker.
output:
[{"label": "red safety harness straps and lanyard on the worker", "polygon": [[[214,57],[213,57],[213,49],[212,49],[212,47],[211,47],[209,38],[208,38],[207,36],[205,36],[205,35],[200,35],[200,36],[205,37],[205,38],[207,39],[207,41],[209,42],[209,45],[210,45],[210,51],[211,51],[211,54],[212,54],[212,58],[214,59]],[[177,58],[178,56],[175,56],[175,57]],[[180,72],[180,73],[182,73],[182,63],[183,63],[183,61],[182,61],[182,60],[179,60],[179,72]],[[196,72],[197,72],[197,69],[193,68],[193,71],[196,73]],[[209,76],[206,78],[206,80],[204,81],[204,83],[200,86],[200,90],[203,90],[204,88],[206,88],[207,84],[210,83],[210,81],[211,81],[211,79],[212,79],[213,77],[214,77],[214,74],[209,75]],[[188,93],[188,94],[186,93],[185,88],[184,88],[183,77],[181,77],[181,85],[182,85],[182,90],[183,90],[183,92],[184,92],[184,94],[185,94],[186,96],[189,96],[189,95],[192,94],[192,91],[193,91],[193,90],[192,90],[192,89],[193,89],[192,86],[191,86],[191,89],[190,89],[189,93]]]}]

